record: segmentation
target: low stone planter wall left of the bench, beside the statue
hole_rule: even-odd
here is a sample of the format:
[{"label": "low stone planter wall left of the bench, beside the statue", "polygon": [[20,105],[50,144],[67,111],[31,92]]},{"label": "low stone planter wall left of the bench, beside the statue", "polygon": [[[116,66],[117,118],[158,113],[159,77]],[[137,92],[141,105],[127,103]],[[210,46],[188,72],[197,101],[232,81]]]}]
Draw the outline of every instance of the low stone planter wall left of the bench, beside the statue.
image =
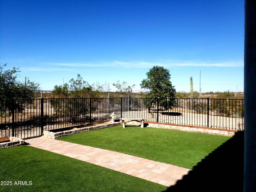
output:
[{"label": "low stone planter wall left of the bench, beside the statue", "polygon": [[72,135],[76,133],[81,133],[85,131],[91,131],[91,130],[97,130],[97,129],[103,129],[107,127],[114,127],[122,125],[122,122],[115,122],[111,124],[100,124],[97,126],[90,126],[90,127],[83,127],[83,128],[74,128],[72,130],[66,130],[66,131],[61,131],[61,132],[50,132],[50,131],[44,131],[44,137],[49,138],[49,139],[57,139],[63,136],[67,135]]}]

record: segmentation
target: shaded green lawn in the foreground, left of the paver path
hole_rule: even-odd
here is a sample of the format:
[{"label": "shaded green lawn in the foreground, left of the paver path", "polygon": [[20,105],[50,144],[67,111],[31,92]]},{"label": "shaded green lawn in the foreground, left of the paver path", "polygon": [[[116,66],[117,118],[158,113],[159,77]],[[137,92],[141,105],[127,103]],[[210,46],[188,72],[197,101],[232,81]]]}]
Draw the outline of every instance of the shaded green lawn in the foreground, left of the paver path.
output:
[{"label": "shaded green lawn in the foreground, left of the paver path", "polygon": [[[167,187],[30,146],[0,149],[1,192],[161,192]],[[4,181],[11,186],[4,185]],[[27,182],[27,186],[15,185]],[[32,185],[29,185],[32,184]]]}]

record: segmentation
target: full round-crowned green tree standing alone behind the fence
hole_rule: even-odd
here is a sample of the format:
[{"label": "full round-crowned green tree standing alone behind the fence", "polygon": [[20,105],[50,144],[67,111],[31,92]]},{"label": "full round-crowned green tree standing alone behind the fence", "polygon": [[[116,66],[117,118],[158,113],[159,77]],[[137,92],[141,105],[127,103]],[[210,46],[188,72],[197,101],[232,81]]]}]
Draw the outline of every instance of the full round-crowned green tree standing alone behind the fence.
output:
[{"label": "full round-crowned green tree standing alone behind the fence", "polygon": [[[150,108],[157,105],[165,109],[176,106],[176,90],[170,81],[170,71],[161,66],[154,66],[146,73],[147,78],[142,80],[140,87],[150,90],[145,106]],[[159,110],[159,109],[158,109]]]}]

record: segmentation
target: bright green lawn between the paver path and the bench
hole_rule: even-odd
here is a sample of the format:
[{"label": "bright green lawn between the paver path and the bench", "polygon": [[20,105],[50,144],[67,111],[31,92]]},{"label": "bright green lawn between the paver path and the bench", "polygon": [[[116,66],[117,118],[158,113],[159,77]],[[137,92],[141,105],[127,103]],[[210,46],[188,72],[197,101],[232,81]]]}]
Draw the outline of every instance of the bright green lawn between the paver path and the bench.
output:
[{"label": "bright green lawn between the paver path and the bench", "polygon": [[117,126],[59,138],[190,169],[228,139],[230,137],[138,126]]}]

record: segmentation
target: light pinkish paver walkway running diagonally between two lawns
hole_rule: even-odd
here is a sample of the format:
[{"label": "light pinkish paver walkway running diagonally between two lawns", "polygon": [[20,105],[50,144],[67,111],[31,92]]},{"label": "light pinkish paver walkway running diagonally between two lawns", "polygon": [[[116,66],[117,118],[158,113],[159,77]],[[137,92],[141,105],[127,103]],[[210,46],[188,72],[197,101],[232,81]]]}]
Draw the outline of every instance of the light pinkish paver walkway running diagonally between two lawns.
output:
[{"label": "light pinkish paver walkway running diagonally between two lawns", "polygon": [[30,146],[116,170],[151,182],[172,186],[190,169],[156,162],[120,152],[38,137],[26,140]]}]

